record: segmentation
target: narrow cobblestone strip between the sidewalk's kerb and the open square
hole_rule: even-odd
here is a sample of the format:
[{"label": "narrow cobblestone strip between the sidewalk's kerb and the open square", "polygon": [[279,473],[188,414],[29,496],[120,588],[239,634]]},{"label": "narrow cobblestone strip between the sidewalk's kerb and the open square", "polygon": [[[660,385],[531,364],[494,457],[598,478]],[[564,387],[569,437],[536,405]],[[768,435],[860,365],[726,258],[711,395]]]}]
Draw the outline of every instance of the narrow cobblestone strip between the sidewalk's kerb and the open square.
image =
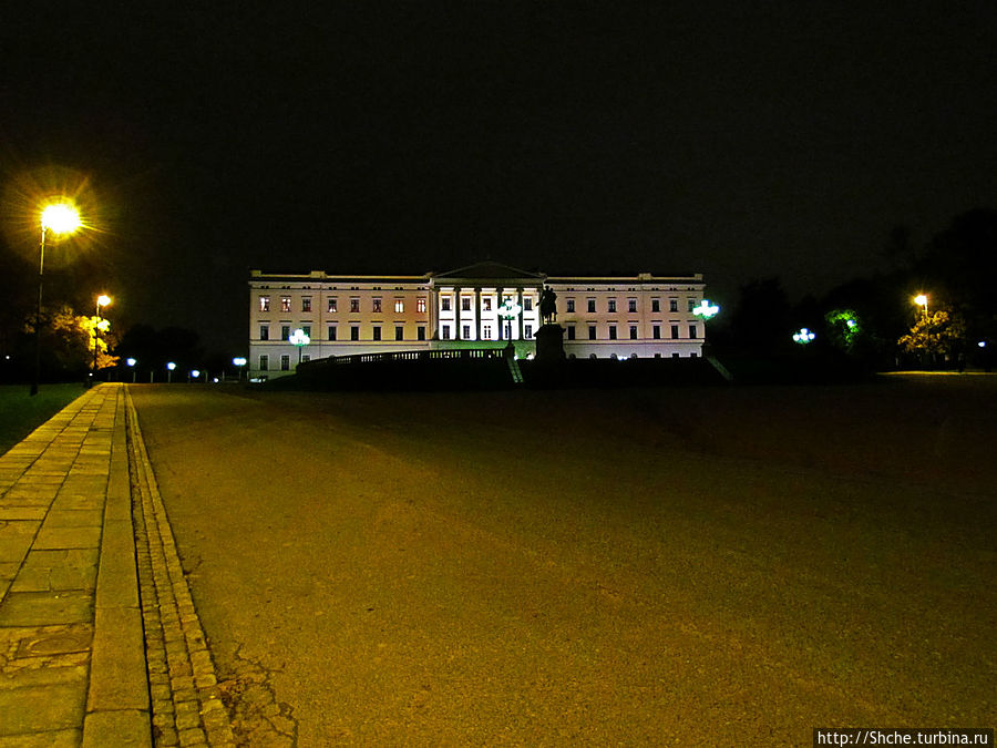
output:
[{"label": "narrow cobblestone strip between the sidewalk's kerb and the open square", "polygon": [[127,388],[125,410],[153,737],[157,746],[235,746]]}]

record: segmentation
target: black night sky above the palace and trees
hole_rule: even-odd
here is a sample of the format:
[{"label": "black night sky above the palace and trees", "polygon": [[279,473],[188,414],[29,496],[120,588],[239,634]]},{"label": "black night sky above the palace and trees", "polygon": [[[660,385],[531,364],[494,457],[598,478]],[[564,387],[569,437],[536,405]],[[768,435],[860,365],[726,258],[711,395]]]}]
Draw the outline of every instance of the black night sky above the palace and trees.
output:
[{"label": "black night sky above the palace and trees", "polygon": [[0,177],[89,177],[123,324],[219,349],[249,267],[701,271],[732,303],[997,207],[993,0],[20,4]]}]

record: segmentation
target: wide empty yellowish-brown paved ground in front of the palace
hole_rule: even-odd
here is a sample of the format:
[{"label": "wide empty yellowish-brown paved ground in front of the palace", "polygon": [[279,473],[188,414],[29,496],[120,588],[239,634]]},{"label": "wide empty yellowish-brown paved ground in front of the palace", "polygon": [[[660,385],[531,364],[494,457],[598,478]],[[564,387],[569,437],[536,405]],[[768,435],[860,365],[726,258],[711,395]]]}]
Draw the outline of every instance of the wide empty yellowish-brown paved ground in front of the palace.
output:
[{"label": "wide empty yellowish-brown paved ground in front of the palace", "polygon": [[131,391],[251,742],[997,723],[997,377]]}]

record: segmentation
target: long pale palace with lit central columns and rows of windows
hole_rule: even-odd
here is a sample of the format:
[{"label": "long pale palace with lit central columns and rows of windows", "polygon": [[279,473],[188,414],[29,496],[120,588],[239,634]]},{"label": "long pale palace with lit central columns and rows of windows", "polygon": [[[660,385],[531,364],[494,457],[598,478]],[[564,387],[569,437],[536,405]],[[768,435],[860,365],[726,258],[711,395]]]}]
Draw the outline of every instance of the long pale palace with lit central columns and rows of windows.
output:
[{"label": "long pale palace with lit central columns and rows of windows", "polygon": [[273,378],[292,373],[299,360],[510,341],[526,357],[545,286],[557,295],[568,357],[702,352],[705,324],[692,312],[702,301],[700,274],[546,276],[490,262],[420,276],[251,270],[248,366],[251,376]]}]

